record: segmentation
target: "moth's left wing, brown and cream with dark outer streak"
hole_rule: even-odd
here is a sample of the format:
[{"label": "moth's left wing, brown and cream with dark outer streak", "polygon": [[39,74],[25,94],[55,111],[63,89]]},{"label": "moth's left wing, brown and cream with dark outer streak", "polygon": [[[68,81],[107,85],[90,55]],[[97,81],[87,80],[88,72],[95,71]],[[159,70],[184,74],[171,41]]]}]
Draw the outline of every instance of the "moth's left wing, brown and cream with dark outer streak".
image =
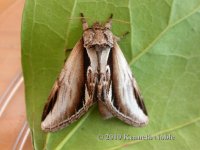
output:
[{"label": "moth's left wing, brown and cream with dark outer streak", "polygon": [[80,118],[92,105],[85,85],[83,40],[77,42],[49,95],[41,128],[56,131]]}]

